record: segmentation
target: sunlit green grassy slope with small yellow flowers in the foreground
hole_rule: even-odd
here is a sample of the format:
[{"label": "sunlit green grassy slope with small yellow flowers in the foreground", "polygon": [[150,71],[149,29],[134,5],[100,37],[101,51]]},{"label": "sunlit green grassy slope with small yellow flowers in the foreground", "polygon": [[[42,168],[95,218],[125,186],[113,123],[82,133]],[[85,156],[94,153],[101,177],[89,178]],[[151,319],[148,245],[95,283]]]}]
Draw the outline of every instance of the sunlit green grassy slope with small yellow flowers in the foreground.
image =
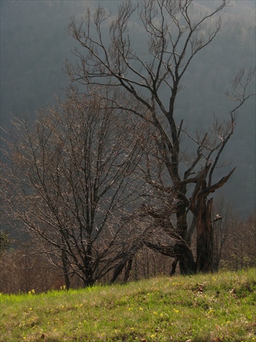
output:
[{"label": "sunlit green grassy slope with small yellow flowers in the foreground", "polygon": [[256,341],[256,269],[1,295],[0,341]]}]

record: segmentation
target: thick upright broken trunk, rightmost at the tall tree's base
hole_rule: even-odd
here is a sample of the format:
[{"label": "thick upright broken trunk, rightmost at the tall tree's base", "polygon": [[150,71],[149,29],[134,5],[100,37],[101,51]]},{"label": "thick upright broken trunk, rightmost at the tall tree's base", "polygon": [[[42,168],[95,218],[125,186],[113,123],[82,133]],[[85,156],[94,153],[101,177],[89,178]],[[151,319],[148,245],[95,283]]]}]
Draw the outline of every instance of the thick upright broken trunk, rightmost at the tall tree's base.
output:
[{"label": "thick upright broken trunk, rightmost at the tall tree's base", "polygon": [[196,271],[213,272],[213,231],[212,231],[213,198],[199,200],[196,219]]}]

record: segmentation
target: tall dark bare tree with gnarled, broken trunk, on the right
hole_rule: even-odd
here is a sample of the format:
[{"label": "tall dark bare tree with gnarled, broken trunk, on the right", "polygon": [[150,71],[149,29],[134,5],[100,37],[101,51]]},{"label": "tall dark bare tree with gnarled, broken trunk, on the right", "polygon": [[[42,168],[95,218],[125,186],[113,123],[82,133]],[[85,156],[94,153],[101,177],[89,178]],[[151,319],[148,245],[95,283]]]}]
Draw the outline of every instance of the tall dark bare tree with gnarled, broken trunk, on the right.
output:
[{"label": "tall dark bare tree with gnarled, broken trunk, on the right", "polygon": [[[118,89],[120,96],[108,92],[105,97],[112,107],[151,127],[151,152],[140,168],[151,194],[141,211],[154,220],[157,234],[161,228],[172,243],[144,240],[144,244],[175,257],[171,273],[178,261],[182,274],[213,269],[213,199],[209,195],[229,180],[234,169],[219,181],[213,176],[233,134],[235,111],[251,96],[246,88],[254,70],[247,75],[240,70],[233,81],[235,97],[231,96],[237,103],[227,121],[216,119],[208,132],[194,135],[184,129],[183,120],[175,118],[181,79],[197,53],[216,38],[223,10],[229,5],[227,0],[214,3],[214,10],[195,14],[192,0],[123,1],[115,17],[101,7],[93,14],[88,9],[81,23],[72,19],[68,26],[82,48],[75,49],[75,64],[66,62],[71,81],[79,87]],[[141,47],[133,44],[138,34]],[[182,150],[183,140],[195,147],[188,158]],[[192,224],[188,224],[191,213]],[[190,244],[194,232],[196,261]]]}]

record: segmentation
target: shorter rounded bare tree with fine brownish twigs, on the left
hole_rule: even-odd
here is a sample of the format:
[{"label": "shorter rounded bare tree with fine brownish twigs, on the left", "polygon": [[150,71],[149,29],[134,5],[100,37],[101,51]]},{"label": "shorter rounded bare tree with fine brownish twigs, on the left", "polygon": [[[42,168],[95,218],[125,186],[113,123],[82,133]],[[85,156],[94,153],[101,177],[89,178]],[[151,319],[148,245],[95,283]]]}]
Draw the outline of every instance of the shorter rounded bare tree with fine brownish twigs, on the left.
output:
[{"label": "shorter rounded bare tree with fine brownish twigs, on the left", "polygon": [[38,241],[31,248],[62,268],[67,287],[73,274],[92,285],[134,244],[131,225],[120,218],[138,200],[138,129],[127,112],[74,90],[38,111],[36,122],[14,121],[4,150],[5,213],[12,228]]}]

